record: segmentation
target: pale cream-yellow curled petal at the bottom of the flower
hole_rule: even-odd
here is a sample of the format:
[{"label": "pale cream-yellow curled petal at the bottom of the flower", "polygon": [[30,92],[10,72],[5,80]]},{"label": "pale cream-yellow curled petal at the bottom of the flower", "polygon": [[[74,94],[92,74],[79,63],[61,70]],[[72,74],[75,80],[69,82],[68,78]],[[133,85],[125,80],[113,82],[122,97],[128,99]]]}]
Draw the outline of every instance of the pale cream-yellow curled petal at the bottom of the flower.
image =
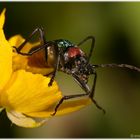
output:
[{"label": "pale cream-yellow curled petal at the bottom of the flower", "polygon": [[46,123],[47,119],[43,119],[37,121],[34,118],[27,117],[21,113],[15,111],[6,111],[8,118],[12,121],[12,123],[27,128],[39,127]]}]

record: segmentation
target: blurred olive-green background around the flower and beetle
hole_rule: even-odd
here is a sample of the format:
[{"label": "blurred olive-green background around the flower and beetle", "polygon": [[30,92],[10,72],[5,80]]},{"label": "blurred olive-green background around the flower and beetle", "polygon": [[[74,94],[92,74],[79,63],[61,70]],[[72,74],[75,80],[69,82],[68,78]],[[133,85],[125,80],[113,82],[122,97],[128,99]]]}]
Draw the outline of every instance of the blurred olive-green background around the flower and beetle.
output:
[{"label": "blurred olive-green background around the flower and beetle", "polygon": [[[94,35],[91,63],[127,63],[140,66],[139,2],[1,2],[6,8],[5,33],[27,37],[43,27],[47,40],[80,42]],[[87,52],[90,42],[82,46]],[[129,138],[140,135],[140,73],[104,68],[97,71],[95,99],[106,114],[90,105],[75,113],[54,117],[45,126],[25,129],[0,115],[1,138]],[[72,77],[57,73],[66,94],[83,93]]]}]

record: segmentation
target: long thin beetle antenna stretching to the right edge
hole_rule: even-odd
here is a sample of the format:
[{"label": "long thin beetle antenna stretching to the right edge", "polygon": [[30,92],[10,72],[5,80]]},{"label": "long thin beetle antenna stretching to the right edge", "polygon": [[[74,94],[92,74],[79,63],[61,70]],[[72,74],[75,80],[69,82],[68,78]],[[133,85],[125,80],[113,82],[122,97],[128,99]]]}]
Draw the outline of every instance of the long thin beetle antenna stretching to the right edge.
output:
[{"label": "long thin beetle antenna stretching to the right edge", "polygon": [[135,70],[137,72],[140,72],[140,68],[133,66],[133,65],[128,65],[128,64],[97,64],[97,65],[93,65],[93,68],[105,68],[105,67],[110,67],[110,68],[114,68],[114,67],[118,67],[118,68],[127,68],[130,70]]}]

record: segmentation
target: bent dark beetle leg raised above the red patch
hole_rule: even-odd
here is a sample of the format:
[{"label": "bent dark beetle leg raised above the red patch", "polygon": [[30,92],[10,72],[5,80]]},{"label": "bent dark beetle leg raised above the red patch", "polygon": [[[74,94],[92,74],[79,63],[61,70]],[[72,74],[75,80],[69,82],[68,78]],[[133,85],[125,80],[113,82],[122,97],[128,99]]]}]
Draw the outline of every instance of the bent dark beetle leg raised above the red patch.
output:
[{"label": "bent dark beetle leg raised above the red patch", "polygon": [[88,54],[87,63],[89,63],[90,58],[91,58],[91,55],[92,55],[92,52],[93,52],[93,48],[94,48],[94,44],[95,44],[95,38],[94,38],[94,36],[88,36],[84,40],[82,40],[80,43],[77,44],[77,46],[80,46],[83,43],[85,43],[86,41],[88,41],[89,39],[92,40],[92,43],[91,43],[90,51],[89,51],[89,54]]}]

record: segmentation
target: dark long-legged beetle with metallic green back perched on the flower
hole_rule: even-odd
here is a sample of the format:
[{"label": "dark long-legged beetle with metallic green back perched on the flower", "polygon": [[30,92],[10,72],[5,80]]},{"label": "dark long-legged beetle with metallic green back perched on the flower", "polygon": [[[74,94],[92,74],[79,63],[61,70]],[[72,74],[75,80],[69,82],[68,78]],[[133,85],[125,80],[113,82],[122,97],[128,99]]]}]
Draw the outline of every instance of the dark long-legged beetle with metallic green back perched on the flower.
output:
[{"label": "dark long-legged beetle with metallic green back perched on the flower", "polygon": [[[40,45],[30,49],[28,53],[22,53],[21,52],[22,48],[25,46],[25,44],[28,41],[32,39],[32,37],[36,33],[39,33]],[[79,46],[88,40],[92,40],[92,44],[91,44],[89,54],[86,55],[79,48]],[[101,109],[105,113],[105,110],[101,106],[99,106],[98,103],[93,98],[96,80],[97,80],[97,73],[96,73],[97,68],[120,67],[120,68],[128,68],[131,70],[136,70],[140,72],[140,68],[128,64],[114,64],[114,63],[97,64],[97,65],[90,64],[89,61],[93,52],[94,44],[95,44],[95,38],[93,36],[86,37],[77,45],[65,39],[46,41],[43,28],[36,28],[31,33],[31,35],[18,48],[13,46],[16,49],[17,53],[26,56],[31,56],[32,54],[41,51],[43,49],[45,50],[44,57],[46,59],[46,62],[48,63],[49,67],[54,68],[54,71],[51,73],[52,77],[50,79],[48,86],[52,85],[56,72],[62,71],[66,74],[71,75],[74,78],[74,80],[78,83],[78,85],[85,91],[85,93],[83,94],[63,96],[62,99],[56,105],[54,113],[52,115],[56,114],[57,109],[63,103],[64,100],[69,100],[72,98],[83,97],[83,96],[89,96],[89,98],[96,105],[96,107]],[[90,75],[94,75],[93,85],[91,89],[88,86],[88,78]]]}]

